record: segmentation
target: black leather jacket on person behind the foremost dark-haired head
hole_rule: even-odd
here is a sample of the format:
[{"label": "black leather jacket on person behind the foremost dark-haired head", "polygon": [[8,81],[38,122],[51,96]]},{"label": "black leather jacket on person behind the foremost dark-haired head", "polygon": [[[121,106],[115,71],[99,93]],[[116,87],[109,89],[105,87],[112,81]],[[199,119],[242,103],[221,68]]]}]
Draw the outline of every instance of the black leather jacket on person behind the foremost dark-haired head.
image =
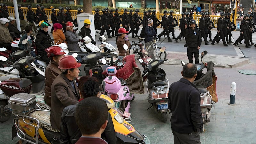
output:
[{"label": "black leather jacket on person behind the foremost dark-haired head", "polygon": [[[82,136],[80,130],[78,130],[78,126],[76,125],[75,110],[76,105],[69,105],[62,111],[60,123],[60,144],[74,144]],[[101,134],[101,138],[105,139],[108,144],[116,144],[116,133],[110,114],[108,114],[107,127]]]}]

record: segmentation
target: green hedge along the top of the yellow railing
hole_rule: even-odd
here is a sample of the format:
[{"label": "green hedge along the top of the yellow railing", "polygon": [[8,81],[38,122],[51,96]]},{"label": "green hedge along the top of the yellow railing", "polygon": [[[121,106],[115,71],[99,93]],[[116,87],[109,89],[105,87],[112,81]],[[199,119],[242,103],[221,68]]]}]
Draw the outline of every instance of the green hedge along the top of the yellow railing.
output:
[{"label": "green hedge along the top of the yellow railing", "polygon": [[[5,4],[7,4],[7,6],[13,6],[13,3],[10,3],[10,2],[6,2]],[[19,2],[18,1],[18,4],[21,4],[21,7],[28,7],[28,5],[31,5],[33,8],[36,8],[36,4],[34,2],[26,2],[26,3],[23,3],[23,2]],[[40,3],[39,3],[40,4]],[[66,5],[66,4],[54,4],[54,3],[46,3],[46,4],[40,4],[41,6],[44,6],[45,8],[49,9],[51,6],[53,6],[55,9],[58,9],[59,6],[62,6],[64,8],[66,7],[70,7],[72,10],[77,10],[78,8],[82,8],[83,9],[83,5],[73,5],[73,4],[70,4],[70,5]],[[106,7],[104,6],[92,6],[92,10],[95,10],[95,9],[99,9],[100,11],[102,11],[103,9],[105,9]],[[113,7],[109,7],[110,9],[114,10]],[[128,9],[128,10],[133,10],[135,11],[135,9],[137,8],[126,8],[126,7],[118,7],[119,9],[119,12],[120,10],[122,9]],[[144,12],[145,11],[148,11],[149,9],[146,8],[139,8],[140,12]],[[153,9],[151,9],[153,10]],[[175,10],[175,9],[160,9],[160,13],[162,13],[164,10],[167,10],[168,12],[170,10],[173,10],[173,12],[180,12],[180,10]]]}]

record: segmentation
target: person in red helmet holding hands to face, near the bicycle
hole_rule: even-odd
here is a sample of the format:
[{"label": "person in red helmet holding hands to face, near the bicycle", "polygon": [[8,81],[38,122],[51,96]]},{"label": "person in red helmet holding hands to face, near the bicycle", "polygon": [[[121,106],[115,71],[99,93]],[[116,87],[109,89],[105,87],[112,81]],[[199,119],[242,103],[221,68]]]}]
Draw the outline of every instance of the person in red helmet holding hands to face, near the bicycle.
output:
[{"label": "person in red helmet holding hands to face, near the bicycle", "polygon": [[[118,35],[116,37],[116,45],[119,51],[118,56],[125,56],[125,55],[130,55],[129,51],[124,50],[124,44],[128,45],[128,49],[131,46],[131,43],[129,42],[128,35],[129,31],[126,31],[125,28],[119,28],[118,29]],[[126,54],[125,54],[126,52]]]}]

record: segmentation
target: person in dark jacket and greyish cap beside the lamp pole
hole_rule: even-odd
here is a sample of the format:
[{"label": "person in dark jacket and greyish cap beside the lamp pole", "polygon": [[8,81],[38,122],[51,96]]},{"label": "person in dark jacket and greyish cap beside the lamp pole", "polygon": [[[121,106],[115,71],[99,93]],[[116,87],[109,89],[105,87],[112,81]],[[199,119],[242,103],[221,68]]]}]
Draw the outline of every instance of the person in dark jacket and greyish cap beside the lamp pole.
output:
[{"label": "person in dark jacket and greyish cap beside the lamp pole", "polygon": [[14,25],[16,19],[12,16],[9,16],[8,20],[10,20],[10,22],[7,28],[9,29],[9,33],[12,36],[12,39],[20,38],[21,31],[19,31],[18,28]]}]

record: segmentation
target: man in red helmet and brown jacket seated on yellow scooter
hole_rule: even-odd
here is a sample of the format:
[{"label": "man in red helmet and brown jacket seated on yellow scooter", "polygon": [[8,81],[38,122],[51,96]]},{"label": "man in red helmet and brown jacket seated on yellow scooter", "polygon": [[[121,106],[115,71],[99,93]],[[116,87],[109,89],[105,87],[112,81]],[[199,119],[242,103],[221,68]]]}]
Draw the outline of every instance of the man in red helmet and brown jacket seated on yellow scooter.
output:
[{"label": "man in red helmet and brown jacket seated on yellow scooter", "polygon": [[64,107],[77,104],[80,99],[78,88],[74,78],[78,77],[78,67],[76,59],[70,55],[64,56],[59,61],[58,68],[62,73],[56,77],[51,86],[51,126],[60,130],[61,114]]}]

